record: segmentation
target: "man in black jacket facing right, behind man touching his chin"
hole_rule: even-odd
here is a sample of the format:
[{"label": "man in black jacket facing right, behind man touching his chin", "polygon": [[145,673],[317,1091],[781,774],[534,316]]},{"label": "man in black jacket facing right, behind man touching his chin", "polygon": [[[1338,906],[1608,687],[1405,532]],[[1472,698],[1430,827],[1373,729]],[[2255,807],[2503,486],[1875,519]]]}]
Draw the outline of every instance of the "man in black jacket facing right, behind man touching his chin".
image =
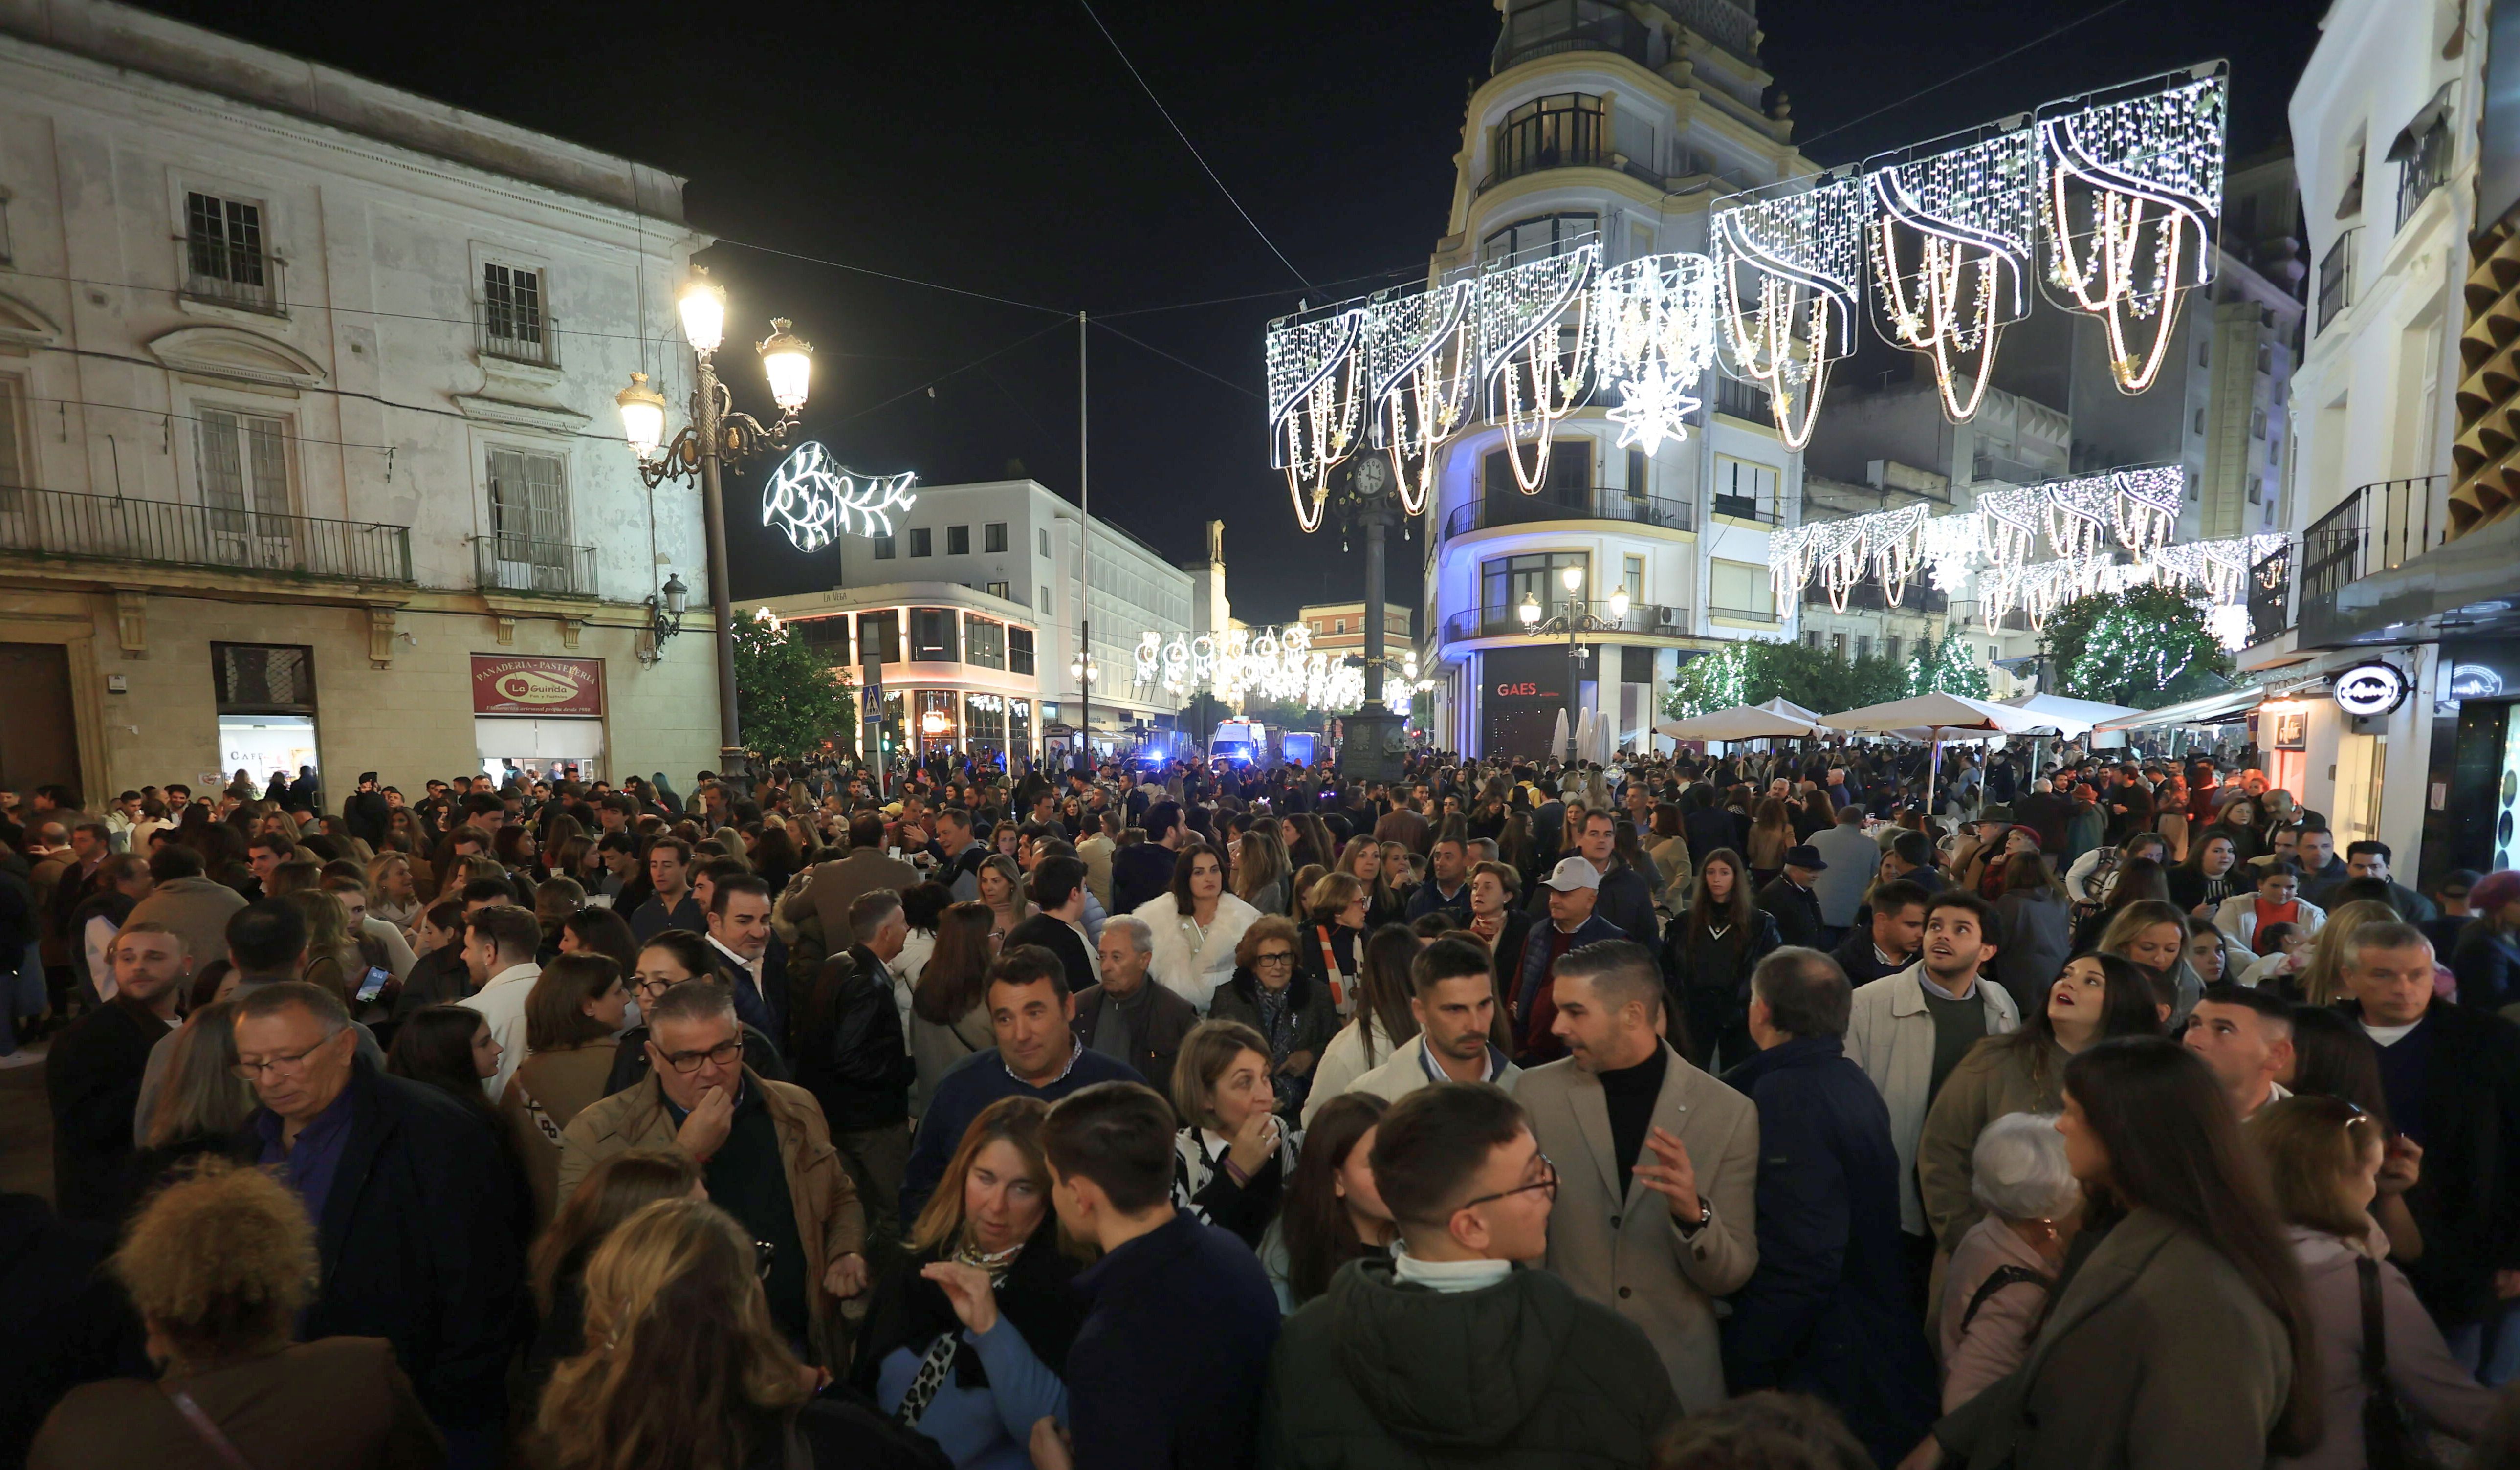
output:
[{"label": "man in black jacket facing right, behind man touching his chin", "polygon": [[910,1084],[920,1069],[902,1044],[902,1014],[892,1004],[892,958],[910,938],[902,895],[869,888],[849,903],[844,953],[822,963],[814,991],[796,1014],[796,1082],[822,1104],[867,1230],[907,1233],[900,1218],[902,1170],[910,1165]]}]

